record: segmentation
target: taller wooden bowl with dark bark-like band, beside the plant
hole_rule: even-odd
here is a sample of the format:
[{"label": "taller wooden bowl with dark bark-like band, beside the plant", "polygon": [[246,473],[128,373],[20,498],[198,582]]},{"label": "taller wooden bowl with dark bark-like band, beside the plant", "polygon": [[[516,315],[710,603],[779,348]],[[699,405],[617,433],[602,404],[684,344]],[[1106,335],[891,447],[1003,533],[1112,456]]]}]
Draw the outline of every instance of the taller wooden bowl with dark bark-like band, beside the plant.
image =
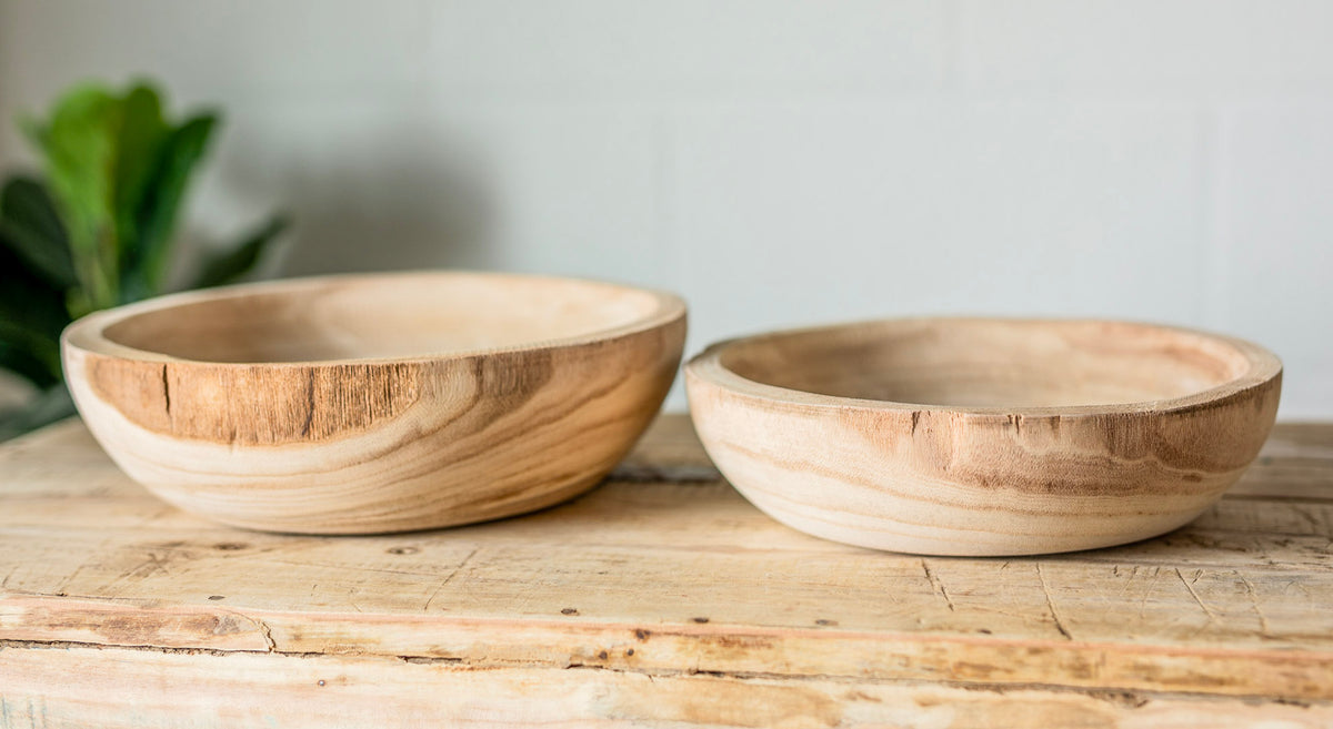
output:
[{"label": "taller wooden bowl with dark bark-like band, beside the plant", "polygon": [[371,533],[511,516],[596,484],[680,363],[674,295],[413,273],[279,281],[101,311],[65,376],[116,463],[255,529]]}]

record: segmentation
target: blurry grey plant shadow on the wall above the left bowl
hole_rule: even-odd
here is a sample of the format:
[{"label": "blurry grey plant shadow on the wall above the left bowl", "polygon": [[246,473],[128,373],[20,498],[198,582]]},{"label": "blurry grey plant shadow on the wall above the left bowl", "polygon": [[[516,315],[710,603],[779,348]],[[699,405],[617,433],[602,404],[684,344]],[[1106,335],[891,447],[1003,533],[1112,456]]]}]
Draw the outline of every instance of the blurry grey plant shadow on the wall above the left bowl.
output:
[{"label": "blurry grey plant shadow on the wall above the left bowl", "polygon": [[420,121],[320,114],[320,129],[308,113],[231,120],[192,238],[267,204],[295,221],[268,275],[489,267],[493,196],[475,148]]}]

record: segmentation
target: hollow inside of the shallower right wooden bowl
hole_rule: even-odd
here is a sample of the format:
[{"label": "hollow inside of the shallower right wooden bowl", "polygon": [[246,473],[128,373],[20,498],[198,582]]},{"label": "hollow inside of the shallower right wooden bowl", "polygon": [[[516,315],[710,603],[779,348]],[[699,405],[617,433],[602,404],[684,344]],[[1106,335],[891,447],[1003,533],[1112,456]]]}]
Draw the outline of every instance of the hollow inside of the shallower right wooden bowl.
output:
[{"label": "hollow inside of the shallower right wooden bowl", "polygon": [[1182,398],[1244,375],[1225,339],[1150,325],[921,319],[780,333],[720,363],[789,390],[948,407],[1062,407]]}]

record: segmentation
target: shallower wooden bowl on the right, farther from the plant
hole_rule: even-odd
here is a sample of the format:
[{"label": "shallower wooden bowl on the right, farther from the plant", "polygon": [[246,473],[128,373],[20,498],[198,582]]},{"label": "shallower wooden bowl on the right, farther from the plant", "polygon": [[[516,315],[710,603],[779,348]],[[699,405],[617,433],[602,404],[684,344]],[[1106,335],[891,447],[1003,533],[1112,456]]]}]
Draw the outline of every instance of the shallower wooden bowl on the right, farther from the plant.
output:
[{"label": "shallower wooden bowl on the right, farther from the plant", "polygon": [[717,467],[804,532],[1034,555],[1180,527],[1268,438],[1281,363],[1118,322],[902,319],[713,345],[685,367]]}]

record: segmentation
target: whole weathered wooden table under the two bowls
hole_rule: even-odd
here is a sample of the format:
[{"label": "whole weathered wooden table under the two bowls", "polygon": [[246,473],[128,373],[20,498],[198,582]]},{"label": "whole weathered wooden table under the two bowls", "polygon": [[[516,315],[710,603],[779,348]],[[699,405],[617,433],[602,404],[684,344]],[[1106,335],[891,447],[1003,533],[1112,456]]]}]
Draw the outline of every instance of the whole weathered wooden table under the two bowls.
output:
[{"label": "whole weathered wooden table under the two bowls", "polygon": [[187,516],[75,420],[0,447],[0,721],[1333,726],[1330,545],[1328,424],[1181,531],[1005,560],[784,528],[681,416],[564,507],[329,539]]}]

